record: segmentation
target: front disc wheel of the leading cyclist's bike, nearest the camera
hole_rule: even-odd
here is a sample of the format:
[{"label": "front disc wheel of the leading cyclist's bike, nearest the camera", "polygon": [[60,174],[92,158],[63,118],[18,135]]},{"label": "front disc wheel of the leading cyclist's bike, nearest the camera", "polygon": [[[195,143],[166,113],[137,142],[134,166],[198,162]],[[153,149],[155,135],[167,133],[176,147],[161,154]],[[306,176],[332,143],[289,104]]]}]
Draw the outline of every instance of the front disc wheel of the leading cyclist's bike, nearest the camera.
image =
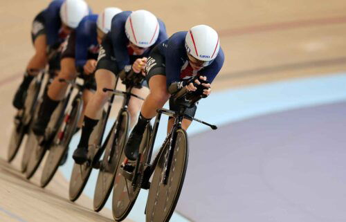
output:
[{"label": "front disc wheel of the leading cyclist's bike, nearest the camera", "polygon": [[160,156],[154,171],[147,198],[147,222],[170,221],[183,187],[185,172],[188,167],[188,136],[183,129],[178,129],[175,133],[176,142],[174,147],[172,147],[174,156],[167,185],[164,185],[162,182],[164,169],[167,167],[169,146],[165,147],[166,150]]}]

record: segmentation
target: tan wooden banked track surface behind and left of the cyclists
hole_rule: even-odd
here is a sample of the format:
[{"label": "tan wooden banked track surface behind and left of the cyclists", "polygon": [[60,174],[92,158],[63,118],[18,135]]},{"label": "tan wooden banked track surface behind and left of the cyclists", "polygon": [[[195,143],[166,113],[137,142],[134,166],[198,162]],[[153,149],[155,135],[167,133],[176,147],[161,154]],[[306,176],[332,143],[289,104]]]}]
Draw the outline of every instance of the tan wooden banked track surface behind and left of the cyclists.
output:
[{"label": "tan wooden banked track surface behind and left of the cyclists", "polygon": [[[48,2],[0,2],[1,158],[6,157],[12,116],[15,113],[10,105],[12,96],[21,81],[28,59],[33,55],[31,22]],[[117,6],[122,10],[150,10],[165,21],[170,35],[197,24],[208,24],[215,28],[219,32],[226,61],[213,84],[213,90],[346,70],[345,0],[88,2],[94,12],[101,12],[107,6]],[[1,161],[0,207],[8,207],[6,209],[10,212],[26,216],[29,221],[56,219],[51,211],[56,210],[57,205],[65,207],[64,210],[60,209],[64,214],[88,215],[91,221],[97,220],[96,214],[85,208],[80,209],[79,205],[84,202],[91,209],[90,200],[85,198],[77,205],[66,201],[67,182],[61,176],[55,178],[47,190],[42,191],[22,179],[15,170],[18,161],[19,158],[12,166]],[[37,178],[34,178],[34,183],[35,180]],[[28,206],[35,210],[28,210]],[[106,214],[111,218],[109,212]],[[0,219],[3,215],[7,214],[0,210]]]}]

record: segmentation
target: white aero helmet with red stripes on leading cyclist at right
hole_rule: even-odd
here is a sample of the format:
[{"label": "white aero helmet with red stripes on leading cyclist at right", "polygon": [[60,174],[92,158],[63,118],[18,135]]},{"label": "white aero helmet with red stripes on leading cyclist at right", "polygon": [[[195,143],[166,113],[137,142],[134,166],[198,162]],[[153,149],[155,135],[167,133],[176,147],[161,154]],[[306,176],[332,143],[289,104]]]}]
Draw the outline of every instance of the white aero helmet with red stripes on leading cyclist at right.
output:
[{"label": "white aero helmet with red stripes on leading cyclist at right", "polygon": [[189,58],[192,55],[201,66],[208,66],[219,53],[219,35],[209,26],[194,26],[186,34],[185,48]]}]

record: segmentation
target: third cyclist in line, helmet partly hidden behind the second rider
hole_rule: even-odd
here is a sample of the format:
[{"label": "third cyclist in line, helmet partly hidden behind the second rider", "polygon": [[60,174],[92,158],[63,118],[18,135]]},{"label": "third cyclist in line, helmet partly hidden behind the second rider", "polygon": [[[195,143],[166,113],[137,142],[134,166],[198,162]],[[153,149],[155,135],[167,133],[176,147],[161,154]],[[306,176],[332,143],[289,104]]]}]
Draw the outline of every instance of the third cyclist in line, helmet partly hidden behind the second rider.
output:
[{"label": "third cyclist in line, helmet partly hidden behind the second rider", "polygon": [[111,28],[111,19],[119,12],[121,12],[119,8],[105,8],[100,16],[87,15],[71,32],[62,52],[61,71],[44,93],[44,100],[39,109],[40,118],[33,125],[33,132],[37,136],[44,135],[53,111],[66,93],[68,84],[60,82],[60,78],[74,80],[77,73],[85,74],[82,76],[86,80],[86,90],[83,92],[84,107],[89,102],[92,93],[88,89],[96,89],[95,79],[91,74],[95,71],[99,44]]}]

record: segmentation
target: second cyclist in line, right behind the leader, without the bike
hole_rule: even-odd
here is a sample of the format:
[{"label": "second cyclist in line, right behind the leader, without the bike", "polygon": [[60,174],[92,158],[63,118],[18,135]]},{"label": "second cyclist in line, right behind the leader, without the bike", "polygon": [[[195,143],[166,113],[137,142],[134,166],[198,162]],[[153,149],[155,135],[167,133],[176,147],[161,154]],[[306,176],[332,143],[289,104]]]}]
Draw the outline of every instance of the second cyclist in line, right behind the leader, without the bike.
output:
[{"label": "second cyclist in line, right behind the leader, without the bike", "polygon": [[[104,93],[103,88],[114,89],[116,76],[129,73],[131,70],[142,75],[147,55],[161,41],[167,39],[165,24],[151,12],[137,10],[120,12],[113,17],[111,31],[104,37],[98,55],[95,78],[97,91],[86,107],[82,136],[78,148],[73,153],[75,163],[82,164],[87,160],[88,142],[93,128],[98,123],[102,107],[111,93]],[[133,89],[132,93],[145,98],[149,89]],[[131,98],[129,113],[131,124],[136,121],[141,100]]]}]

